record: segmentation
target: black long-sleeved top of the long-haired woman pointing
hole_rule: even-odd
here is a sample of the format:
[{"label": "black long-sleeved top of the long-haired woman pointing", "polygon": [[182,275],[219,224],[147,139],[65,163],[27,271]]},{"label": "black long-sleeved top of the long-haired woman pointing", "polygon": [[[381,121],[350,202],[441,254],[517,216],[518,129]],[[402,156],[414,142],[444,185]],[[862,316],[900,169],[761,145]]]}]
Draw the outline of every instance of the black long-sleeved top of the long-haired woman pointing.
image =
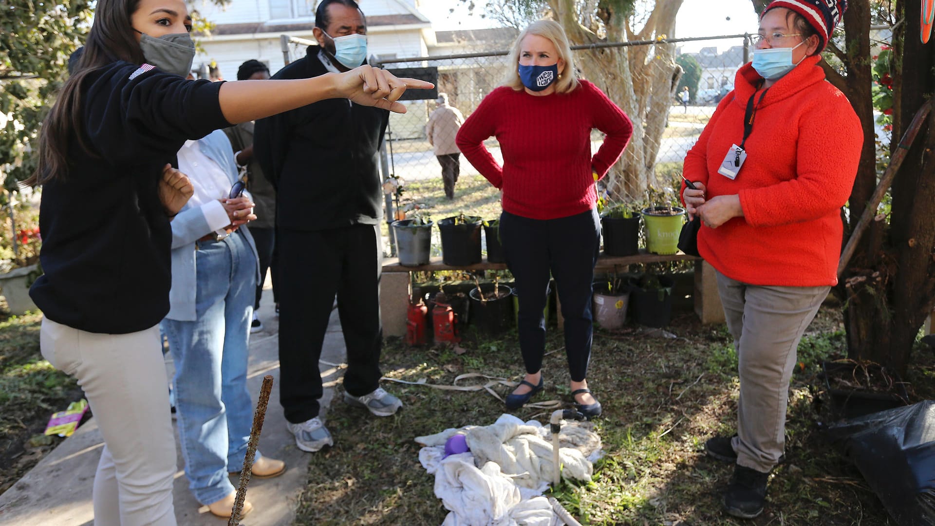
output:
[{"label": "black long-sleeved top of the long-haired woman pointing", "polygon": [[222,82],[148,67],[115,62],[83,80],[67,173],[42,189],[45,274],[30,295],[46,317],[74,329],[125,334],[165,317],[172,230],[157,193],[162,168],[178,166],[186,139],[230,125],[218,102]]}]

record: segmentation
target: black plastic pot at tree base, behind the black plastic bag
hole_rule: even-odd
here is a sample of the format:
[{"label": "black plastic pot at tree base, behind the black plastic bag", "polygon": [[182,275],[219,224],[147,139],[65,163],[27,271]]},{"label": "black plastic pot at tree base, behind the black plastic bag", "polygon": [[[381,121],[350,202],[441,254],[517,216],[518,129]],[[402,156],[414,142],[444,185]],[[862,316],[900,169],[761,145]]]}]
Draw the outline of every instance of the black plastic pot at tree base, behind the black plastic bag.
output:
[{"label": "black plastic pot at tree base, behind the black plastic bag", "polygon": [[[856,418],[857,416],[866,416],[871,413],[894,409],[909,403],[909,394],[906,392],[906,386],[899,379],[899,375],[890,371],[882,370],[893,380],[893,390],[890,392],[870,392],[856,388],[838,388],[831,387],[831,378],[852,377],[859,378],[865,374],[861,367],[854,363],[841,362],[822,362],[821,379],[825,383],[825,389],[828,398],[831,400],[831,408],[834,415],[838,418]],[[870,374],[881,373],[881,368],[877,365],[868,366]],[[856,383],[856,382],[854,382]]]}]

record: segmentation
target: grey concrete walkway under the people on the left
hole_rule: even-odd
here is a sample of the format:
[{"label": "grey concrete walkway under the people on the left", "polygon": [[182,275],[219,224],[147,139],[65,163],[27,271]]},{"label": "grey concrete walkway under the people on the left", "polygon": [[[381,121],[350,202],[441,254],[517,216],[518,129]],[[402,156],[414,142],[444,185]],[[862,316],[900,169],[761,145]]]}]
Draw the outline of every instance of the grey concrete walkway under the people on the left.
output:
[{"label": "grey concrete walkway under the people on the left", "polygon": [[[267,284],[268,285],[268,284]],[[264,294],[259,317],[264,330],[251,335],[249,386],[255,398],[266,374],[275,378],[269,410],[260,438],[260,450],[271,458],[285,460],[285,474],[270,479],[252,479],[247,498],[253,512],[241,521],[244,525],[273,526],[290,524],[295,518],[295,501],[305,487],[309,454],[295,447],[292,434],[286,431],[285,418],[279,403],[280,362],[278,358],[279,322],[273,312],[272,291]],[[322,361],[343,363],[344,339],[337,311],[332,311],[328,333],[324,339]],[[172,360],[166,369],[171,377]],[[322,411],[334,398],[334,386],[340,381],[342,368],[322,364],[324,381]],[[173,424],[175,422],[173,421]],[[0,524],[16,526],[91,526],[94,524],[92,486],[97,460],[103,446],[101,434],[94,418],[82,425],[74,435],[56,447],[45,459],[0,495]],[[178,435],[176,436],[178,447]],[[208,513],[207,506],[199,506],[188,490],[181,453],[178,452],[179,471],[176,473],[176,518],[180,526],[223,526],[226,519]],[[239,469],[239,466],[238,466]],[[237,477],[231,478],[237,487]]]}]

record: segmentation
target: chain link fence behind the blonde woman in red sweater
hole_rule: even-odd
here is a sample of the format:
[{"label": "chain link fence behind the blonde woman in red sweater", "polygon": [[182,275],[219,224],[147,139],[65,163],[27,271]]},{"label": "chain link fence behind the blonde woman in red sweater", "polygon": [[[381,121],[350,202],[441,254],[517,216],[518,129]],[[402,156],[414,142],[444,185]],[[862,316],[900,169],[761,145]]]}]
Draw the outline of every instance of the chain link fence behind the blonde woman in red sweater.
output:
[{"label": "chain link fence behind the blonde woman in red sweater", "polygon": [[[697,52],[682,52],[686,44]],[[305,55],[309,40],[282,36],[286,63]],[[449,105],[465,118],[496,89],[515,65],[508,64],[503,43],[496,51],[444,56],[378,60],[375,66],[390,70],[433,68],[438,92],[448,95]],[[661,198],[676,198],[673,188],[682,172],[685,153],[695,144],[711,119],[717,103],[733,89],[737,69],[749,61],[750,35],[672,38],[652,41],[600,43],[572,48],[578,75],[591,80],[620,106],[634,124],[634,135],[620,161],[611,168],[598,191],[611,203],[634,207]],[[687,100],[683,89],[687,87]],[[425,124],[436,109],[435,96],[409,100],[407,112],[392,114],[381,154],[383,177],[395,175],[405,182],[440,179],[441,166],[425,134]],[[556,123],[556,125],[561,125]],[[439,136],[436,140],[451,139]],[[447,133],[456,133],[452,129]],[[602,134],[592,132],[592,151],[600,147]],[[502,162],[496,138],[486,141],[488,150]],[[464,156],[461,175],[478,171]],[[668,190],[667,190],[668,189]],[[391,205],[389,198],[387,204]],[[393,217],[387,207],[387,219]]]}]

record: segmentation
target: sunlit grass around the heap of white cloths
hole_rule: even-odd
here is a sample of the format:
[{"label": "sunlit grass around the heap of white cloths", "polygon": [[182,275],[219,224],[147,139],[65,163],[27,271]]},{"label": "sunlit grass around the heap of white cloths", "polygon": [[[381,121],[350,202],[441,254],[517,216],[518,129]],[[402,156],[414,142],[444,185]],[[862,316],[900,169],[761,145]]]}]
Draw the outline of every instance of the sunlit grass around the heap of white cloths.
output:
[{"label": "sunlit grass around the heap of white cloths", "polygon": [[[736,426],[739,381],[732,340],[723,326],[701,326],[694,314],[675,316],[676,340],[632,332],[595,334],[589,384],[604,405],[596,421],[606,453],[593,480],[563,484],[554,496],[590,524],[893,524],[856,470],[827,446],[815,420],[809,388],[816,363],[843,352],[841,315],[825,308],[800,346],[793,377],[786,457],[774,471],[766,512],[742,522],[721,510],[732,468],[707,459],[704,441]],[[560,333],[549,329],[543,365],[546,389],[536,400],[570,405],[568,368]],[[518,379],[515,332],[462,343],[468,352],[387,343],[389,377],[447,384],[461,373]],[[931,353],[913,364],[915,391],[935,390]],[[309,457],[309,484],[298,502],[297,524],[437,525],[447,513],[433,493],[434,477],[419,464],[415,436],[468,424],[493,423],[504,412],[484,391],[459,392],[384,382],[405,403],[396,416],[376,418],[336,402],[327,425],[336,444]],[[507,387],[496,387],[501,395]],[[516,412],[545,421],[535,409]]]}]

